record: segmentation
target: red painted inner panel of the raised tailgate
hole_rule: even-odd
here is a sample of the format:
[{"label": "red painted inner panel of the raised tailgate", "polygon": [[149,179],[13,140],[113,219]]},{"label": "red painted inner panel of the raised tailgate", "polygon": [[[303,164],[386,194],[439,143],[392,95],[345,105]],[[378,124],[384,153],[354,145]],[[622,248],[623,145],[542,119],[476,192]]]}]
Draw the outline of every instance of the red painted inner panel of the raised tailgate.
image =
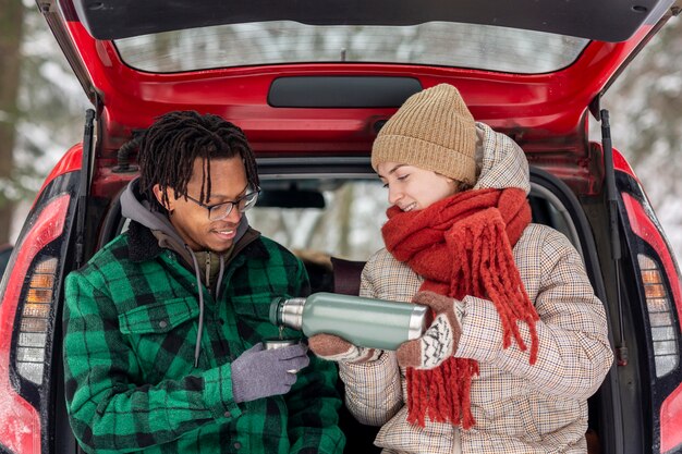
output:
[{"label": "red painted inner panel of the raised tailgate", "polygon": [[[125,3],[113,3],[97,2],[102,9],[124,9]],[[661,2],[659,8],[668,3]],[[187,108],[220,114],[240,124],[257,152],[363,152],[376,135],[374,124],[389,118],[394,107],[273,108],[268,103],[268,94],[273,81],[280,77],[376,74],[414,77],[424,88],[440,82],[453,84],[474,118],[509,134],[528,154],[574,155],[570,162],[574,165],[588,155],[586,107],[598,100],[612,76],[657,29],[657,25],[648,23],[654,17],[648,16],[648,21],[633,28],[629,39],[592,41],[573,64],[547,74],[368,63],[280,64],[156,74],[126,66],[112,41],[89,35],[70,1],[62,0],[60,7],[63,15],[53,7],[49,14],[53,14],[52,22],[59,23],[57,28],[65,32],[58,39],[62,48],[70,49],[66,53],[72,54],[81,83],[106,118],[102,123],[107,130],[100,132],[105,157],[120,147],[131,130],[146,127],[166,111]],[[85,10],[94,14],[94,8]],[[665,21],[669,13],[663,13],[657,10],[655,14],[662,14]]]}]

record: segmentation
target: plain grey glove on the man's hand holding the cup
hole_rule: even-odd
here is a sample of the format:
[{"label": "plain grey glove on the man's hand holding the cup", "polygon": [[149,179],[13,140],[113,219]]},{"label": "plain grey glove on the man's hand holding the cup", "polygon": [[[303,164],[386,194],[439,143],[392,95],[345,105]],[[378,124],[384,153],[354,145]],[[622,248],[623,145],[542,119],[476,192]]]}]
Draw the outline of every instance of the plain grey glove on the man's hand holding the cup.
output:
[{"label": "plain grey glove on the man's hand holding the cup", "polygon": [[304,344],[264,349],[258,343],[232,363],[232,396],[234,402],[249,402],[270,395],[287,394],[296,382],[290,370],[303,369],[310,363]]}]

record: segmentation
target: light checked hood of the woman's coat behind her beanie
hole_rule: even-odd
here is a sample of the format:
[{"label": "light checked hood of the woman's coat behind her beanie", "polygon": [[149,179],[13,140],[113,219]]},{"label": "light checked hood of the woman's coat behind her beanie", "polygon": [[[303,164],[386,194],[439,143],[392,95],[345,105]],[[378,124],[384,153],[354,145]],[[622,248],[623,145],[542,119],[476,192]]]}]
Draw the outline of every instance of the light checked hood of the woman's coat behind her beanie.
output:
[{"label": "light checked hood of the woman's coat behind her beanie", "polygon": [[476,123],[476,162],[480,172],[474,189],[517,187],[529,194],[531,174],[523,149],[484,123]]}]

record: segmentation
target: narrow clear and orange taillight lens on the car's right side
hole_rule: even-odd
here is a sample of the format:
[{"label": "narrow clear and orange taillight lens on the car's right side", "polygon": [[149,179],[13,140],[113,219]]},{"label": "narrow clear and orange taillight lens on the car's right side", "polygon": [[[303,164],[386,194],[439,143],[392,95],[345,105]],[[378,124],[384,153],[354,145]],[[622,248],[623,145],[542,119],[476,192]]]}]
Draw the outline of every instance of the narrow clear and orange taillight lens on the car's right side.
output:
[{"label": "narrow clear and orange taillight lens on the car's right side", "polygon": [[674,370],[680,364],[678,329],[660,267],[644,254],[637,256],[637,261],[651,327],[656,377],[660,378]]}]

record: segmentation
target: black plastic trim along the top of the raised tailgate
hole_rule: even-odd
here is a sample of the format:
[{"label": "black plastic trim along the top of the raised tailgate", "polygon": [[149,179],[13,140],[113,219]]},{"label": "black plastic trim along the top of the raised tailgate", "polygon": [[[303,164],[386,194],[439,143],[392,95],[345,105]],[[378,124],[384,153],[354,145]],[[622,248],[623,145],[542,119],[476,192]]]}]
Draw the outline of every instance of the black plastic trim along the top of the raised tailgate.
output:
[{"label": "black plastic trim along the top of the raised tailgate", "polygon": [[74,0],[96,39],[211,25],[289,20],[313,25],[413,25],[463,22],[622,41],[673,0]]}]

